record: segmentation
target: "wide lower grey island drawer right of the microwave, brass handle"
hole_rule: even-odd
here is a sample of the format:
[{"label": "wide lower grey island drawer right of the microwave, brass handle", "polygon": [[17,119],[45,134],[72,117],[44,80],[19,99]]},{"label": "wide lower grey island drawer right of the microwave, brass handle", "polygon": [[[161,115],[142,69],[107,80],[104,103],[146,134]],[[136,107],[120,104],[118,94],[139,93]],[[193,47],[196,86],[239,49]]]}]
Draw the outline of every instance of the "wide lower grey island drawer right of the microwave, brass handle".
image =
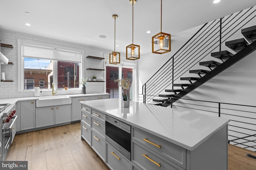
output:
[{"label": "wide lower grey island drawer right of the microwave, brass handle", "polygon": [[132,162],[143,170],[184,170],[134,140],[132,140]]}]

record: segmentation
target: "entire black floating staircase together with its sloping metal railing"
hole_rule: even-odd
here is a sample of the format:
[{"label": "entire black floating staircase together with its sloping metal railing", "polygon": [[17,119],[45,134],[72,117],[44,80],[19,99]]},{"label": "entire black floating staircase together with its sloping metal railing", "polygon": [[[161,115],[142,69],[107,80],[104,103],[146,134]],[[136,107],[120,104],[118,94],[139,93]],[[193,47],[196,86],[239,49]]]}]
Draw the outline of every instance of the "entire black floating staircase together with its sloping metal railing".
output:
[{"label": "entire black floating staircase together with its sloping metal railing", "polygon": [[[238,21],[237,18],[240,19],[242,17],[245,17],[244,23],[242,23],[243,21],[236,23]],[[215,20],[211,23],[206,23],[143,85],[143,102],[164,107],[170,106],[173,102],[176,102],[220,72],[254,52],[256,50],[256,25],[244,29],[241,28],[255,17],[256,6],[226,18],[220,18],[219,21]],[[230,24],[232,21],[234,23]],[[224,33],[225,31],[226,33]],[[244,38],[230,41],[228,38],[238,31],[242,33]],[[240,37],[242,35],[240,34]],[[225,43],[228,50],[221,50],[222,43]],[[216,50],[217,47],[219,47],[219,50]],[[232,51],[232,53],[229,51]],[[206,56],[214,57],[218,61],[214,58],[212,58],[214,60],[204,61]],[[204,66],[205,69],[191,69],[196,64]],[[188,70],[186,70],[187,68]],[[196,76],[183,77],[183,74],[186,72]],[[163,78],[167,79],[166,84],[162,83]],[[175,84],[174,81],[177,79],[185,80],[186,82],[184,81],[184,84]],[[154,82],[159,83],[156,85]],[[167,89],[166,87],[168,86],[172,86],[172,89]],[[166,92],[165,94],[161,94],[162,88],[165,88],[163,89]]]}]

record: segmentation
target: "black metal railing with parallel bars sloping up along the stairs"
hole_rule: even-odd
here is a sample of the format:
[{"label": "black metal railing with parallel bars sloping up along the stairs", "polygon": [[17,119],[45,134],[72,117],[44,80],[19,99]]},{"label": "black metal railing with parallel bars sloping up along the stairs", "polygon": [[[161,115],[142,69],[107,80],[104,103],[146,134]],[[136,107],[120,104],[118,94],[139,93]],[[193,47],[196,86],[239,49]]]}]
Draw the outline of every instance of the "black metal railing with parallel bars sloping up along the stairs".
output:
[{"label": "black metal railing with parallel bars sloping up along the stairs", "polygon": [[[222,50],[223,43],[239,33],[256,17],[256,6],[204,24],[143,86],[143,102],[152,102],[174,81],[210,53]],[[241,34],[241,33],[240,33]],[[240,35],[242,37],[242,34]]]}]

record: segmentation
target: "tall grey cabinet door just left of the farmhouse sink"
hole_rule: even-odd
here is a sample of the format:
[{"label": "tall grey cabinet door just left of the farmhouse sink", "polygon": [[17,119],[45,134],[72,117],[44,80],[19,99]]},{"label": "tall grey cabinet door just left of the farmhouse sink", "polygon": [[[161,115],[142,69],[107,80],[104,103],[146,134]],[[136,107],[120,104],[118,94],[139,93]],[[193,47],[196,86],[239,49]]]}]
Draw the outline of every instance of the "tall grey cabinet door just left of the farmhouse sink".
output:
[{"label": "tall grey cabinet door just left of the farmhouse sink", "polygon": [[35,100],[20,102],[20,130],[33,129],[36,127],[35,103]]}]

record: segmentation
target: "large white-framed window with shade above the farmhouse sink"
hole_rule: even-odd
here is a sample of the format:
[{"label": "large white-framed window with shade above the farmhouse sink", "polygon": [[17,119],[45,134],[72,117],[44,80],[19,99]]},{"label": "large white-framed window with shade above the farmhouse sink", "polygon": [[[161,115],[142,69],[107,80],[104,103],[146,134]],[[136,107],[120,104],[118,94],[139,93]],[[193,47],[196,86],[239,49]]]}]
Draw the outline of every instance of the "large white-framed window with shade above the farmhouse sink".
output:
[{"label": "large white-framed window with shade above the farmhouse sink", "polygon": [[[52,83],[56,87],[55,90],[64,87],[79,88],[77,82],[80,81],[82,73],[80,66],[82,51],[39,45],[23,40],[18,40],[18,47],[21,56],[19,59],[21,73],[18,81],[20,79],[20,82],[23,82],[24,79],[24,85],[18,86],[19,91],[35,87],[51,89]],[[29,79],[33,79],[33,82],[28,81]]]}]

